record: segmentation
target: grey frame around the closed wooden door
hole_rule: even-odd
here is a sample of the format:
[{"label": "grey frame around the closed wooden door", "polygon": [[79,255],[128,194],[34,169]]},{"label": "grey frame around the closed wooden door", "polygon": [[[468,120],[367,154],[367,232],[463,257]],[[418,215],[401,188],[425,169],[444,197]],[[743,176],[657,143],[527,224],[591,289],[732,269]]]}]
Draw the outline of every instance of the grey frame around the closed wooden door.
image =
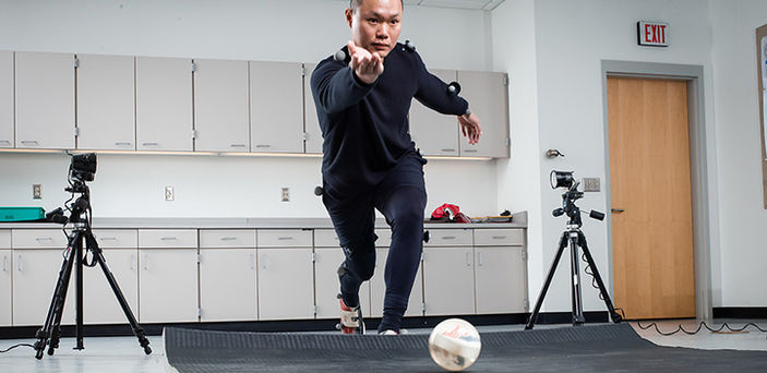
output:
[{"label": "grey frame around the closed wooden door", "polygon": [[[601,61],[602,108],[604,119],[604,194],[608,209],[610,195],[610,123],[608,117],[608,77],[662,79],[687,83],[687,118],[690,121],[690,176],[693,207],[693,252],[695,270],[696,318],[712,317],[711,290],[711,238],[708,201],[708,157],[706,154],[706,106],[704,96],[703,65],[673,64],[636,61]],[[612,255],[612,214],[607,214],[608,227],[608,276],[610,290],[614,294]]]}]

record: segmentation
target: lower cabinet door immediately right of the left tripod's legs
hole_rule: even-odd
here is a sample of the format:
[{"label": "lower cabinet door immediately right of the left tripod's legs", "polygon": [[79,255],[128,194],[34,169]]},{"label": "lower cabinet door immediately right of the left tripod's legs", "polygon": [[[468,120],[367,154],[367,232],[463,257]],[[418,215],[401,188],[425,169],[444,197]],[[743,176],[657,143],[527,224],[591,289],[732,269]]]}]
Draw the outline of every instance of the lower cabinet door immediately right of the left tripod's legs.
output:
[{"label": "lower cabinet door immediately right of the left tripod's legs", "polygon": [[139,249],[139,320],[197,321],[197,250]]}]

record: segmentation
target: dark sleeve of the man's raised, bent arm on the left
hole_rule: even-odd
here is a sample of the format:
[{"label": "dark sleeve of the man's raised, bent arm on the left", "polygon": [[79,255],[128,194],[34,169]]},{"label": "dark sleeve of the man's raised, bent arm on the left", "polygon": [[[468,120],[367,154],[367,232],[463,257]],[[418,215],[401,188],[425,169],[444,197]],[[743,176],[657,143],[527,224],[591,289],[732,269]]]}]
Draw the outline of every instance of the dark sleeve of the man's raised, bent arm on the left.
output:
[{"label": "dark sleeve of the man's raised, bent arm on the left", "polygon": [[365,84],[341,61],[325,60],[311,77],[312,95],[326,113],[334,115],[359,103],[375,86]]}]

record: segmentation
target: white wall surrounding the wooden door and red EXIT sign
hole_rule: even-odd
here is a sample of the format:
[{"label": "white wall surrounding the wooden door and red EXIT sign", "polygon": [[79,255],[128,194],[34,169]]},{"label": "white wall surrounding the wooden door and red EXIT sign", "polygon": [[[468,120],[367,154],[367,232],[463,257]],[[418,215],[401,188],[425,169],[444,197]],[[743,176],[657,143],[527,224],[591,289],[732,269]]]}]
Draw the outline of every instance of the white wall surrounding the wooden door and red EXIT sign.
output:
[{"label": "white wall surrounding the wooden door and red EXIT sign", "polygon": [[[530,3],[534,5],[532,11]],[[637,46],[636,22],[642,20],[669,22],[671,46],[669,48]],[[534,23],[535,44],[532,46],[527,39],[530,35],[529,25],[522,26],[518,23]],[[507,26],[510,28],[504,29],[499,24],[517,24],[517,26]],[[529,229],[529,234],[535,232],[541,234],[540,238],[530,237],[529,245],[531,251],[528,264],[530,296],[531,301],[535,301],[542,278],[556,251],[559,238],[565,228],[563,218],[553,218],[550,215],[553,208],[561,206],[562,201],[561,191],[552,191],[548,188],[549,172],[552,169],[574,170],[578,178],[600,178],[602,191],[609,188],[604,184],[608,170],[601,60],[703,65],[705,89],[707,93],[712,92],[711,27],[708,4],[696,0],[539,0],[535,2],[507,0],[493,11],[493,27],[494,31],[500,32],[493,35],[496,70],[508,71],[512,76],[526,74],[522,89],[528,95],[537,96],[535,100],[538,103],[537,112],[529,108],[515,110],[515,105],[518,103],[512,104],[512,139],[523,133],[524,142],[537,139],[538,143],[526,143],[522,145],[524,149],[517,148],[515,152],[520,154],[512,157],[512,161],[505,166],[505,172],[502,170],[499,173],[500,185],[513,185],[524,180],[523,182],[529,183],[525,192],[539,193],[539,195],[515,197],[520,201],[526,197],[532,200],[526,204],[540,201],[538,208],[529,208],[532,216],[541,214],[539,219],[530,220]],[[519,32],[524,37],[520,37]],[[518,47],[516,59],[501,58],[504,48],[516,47]],[[529,65],[532,57],[525,56],[531,51],[535,51],[535,68]],[[530,76],[535,76],[535,84],[529,81]],[[515,95],[514,89],[512,87],[513,96],[519,98],[524,95]],[[530,98],[527,98],[526,103],[535,105]],[[517,112],[516,117],[514,112]],[[712,118],[711,95],[706,96],[706,117],[709,118],[709,144],[714,145],[714,121],[710,120]],[[543,153],[548,148],[558,148],[566,157],[543,158]],[[715,191],[712,195],[716,196],[715,148],[711,146],[708,153],[711,179],[709,188]],[[504,164],[500,163],[500,168],[503,167]],[[538,167],[537,170],[534,169],[536,167]],[[518,175],[519,170],[523,170],[522,177]],[[501,189],[502,186],[499,188],[499,193]],[[499,198],[502,201],[502,197]],[[587,193],[586,197],[579,201],[579,205],[584,209],[594,208],[601,212],[610,208],[603,192]],[[717,227],[716,221],[715,227]],[[583,230],[588,238],[589,248],[603,277],[609,279],[608,229],[606,222],[591,219],[584,221]],[[537,256],[536,252],[539,253]],[[556,277],[549,290],[543,310],[570,311],[568,276],[568,261],[564,261],[556,270]],[[588,285],[589,277],[585,279],[588,279],[584,285],[585,310],[604,310],[596,289],[591,289]],[[714,285],[715,288],[719,286],[719,284]]]}]

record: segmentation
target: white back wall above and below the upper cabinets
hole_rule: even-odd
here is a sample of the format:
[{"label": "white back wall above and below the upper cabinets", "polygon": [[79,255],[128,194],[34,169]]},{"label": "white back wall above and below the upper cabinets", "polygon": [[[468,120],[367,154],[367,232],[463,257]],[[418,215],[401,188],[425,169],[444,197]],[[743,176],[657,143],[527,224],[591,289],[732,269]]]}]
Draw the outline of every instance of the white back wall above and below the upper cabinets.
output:
[{"label": "white back wall above and below the upper cabinets", "polygon": [[[316,62],[349,39],[346,2],[315,0],[0,1],[0,50]],[[400,39],[429,67],[489,70],[489,13],[408,7]],[[455,47],[459,48],[455,48]],[[446,129],[448,130],[448,129]],[[319,158],[100,155],[92,184],[97,217],[324,217],[313,189]],[[63,155],[0,154],[0,205],[52,209]],[[426,167],[428,212],[444,202],[496,214],[494,161]],[[478,180],[480,180],[478,182]],[[44,198],[32,200],[41,183]],[[173,185],[176,201],[163,200]],[[279,202],[280,188],[291,190]]]}]

